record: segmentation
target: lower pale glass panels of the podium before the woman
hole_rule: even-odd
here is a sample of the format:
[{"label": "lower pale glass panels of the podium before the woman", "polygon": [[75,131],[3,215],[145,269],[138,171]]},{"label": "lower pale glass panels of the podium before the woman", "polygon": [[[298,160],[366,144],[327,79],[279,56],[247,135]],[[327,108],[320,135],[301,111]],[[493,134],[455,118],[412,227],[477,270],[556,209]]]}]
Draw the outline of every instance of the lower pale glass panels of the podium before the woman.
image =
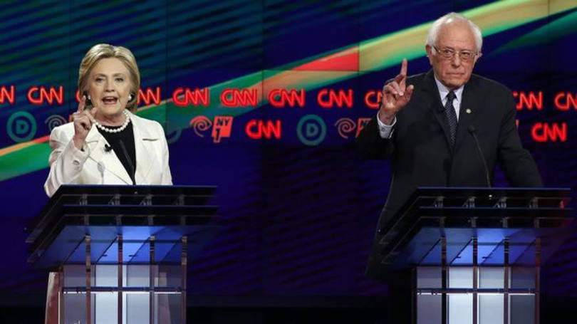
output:
[{"label": "lower pale glass panels of the podium before the woman", "polygon": [[[121,266],[120,287],[117,265],[91,266],[91,324],[119,323],[119,320],[123,324],[183,323],[185,295],[182,287],[184,282],[182,266],[172,264]],[[85,266],[65,265],[62,273],[64,274],[63,323],[87,323],[88,289]]]}]

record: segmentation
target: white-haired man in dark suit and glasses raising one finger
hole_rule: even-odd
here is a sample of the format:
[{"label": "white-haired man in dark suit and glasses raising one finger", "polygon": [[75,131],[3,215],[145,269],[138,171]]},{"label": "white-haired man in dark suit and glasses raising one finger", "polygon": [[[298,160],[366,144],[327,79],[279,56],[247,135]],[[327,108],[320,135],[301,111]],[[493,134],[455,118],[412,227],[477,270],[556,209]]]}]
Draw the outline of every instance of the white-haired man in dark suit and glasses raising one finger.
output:
[{"label": "white-haired man in dark suit and glasses raising one finger", "polygon": [[521,147],[511,90],[472,74],[481,47],[481,31],[472,21],[454,13],[437,19],[425,46],[432,70],[407,77],[403,60],[400,74],[383,87],[378,115],[358,136],[361,155],[390,157],[393,170],[368,276],[384,279],[380,230],[417,187],[488,187],[497,163],[512,187],[542,186],[534,160]]}]

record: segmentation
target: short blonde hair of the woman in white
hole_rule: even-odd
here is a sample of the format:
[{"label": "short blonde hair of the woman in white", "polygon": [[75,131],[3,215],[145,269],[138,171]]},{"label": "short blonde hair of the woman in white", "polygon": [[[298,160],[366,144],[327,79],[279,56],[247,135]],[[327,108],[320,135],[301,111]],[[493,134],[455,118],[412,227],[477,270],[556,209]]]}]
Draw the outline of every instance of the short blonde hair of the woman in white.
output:
[{"label": "short blonde hair of the woman in white", "polygon": [[[80,69],[78,70],[78,90],[80,96],[88,90],[88,76],[90,70],[95,66],[96,62],[103,58],[118,58],[124,63],[130,74],[130,95],[132,99],[128,100],[126,109],[134,112],[136,110],[138,91],[140,90],[140,72],[136,65],[136,58],[132,52],[123,46],[112,46],[109,44],[96,44],[84,56],[80,62]],[[92,108],[87,105],[87,108]]]}]

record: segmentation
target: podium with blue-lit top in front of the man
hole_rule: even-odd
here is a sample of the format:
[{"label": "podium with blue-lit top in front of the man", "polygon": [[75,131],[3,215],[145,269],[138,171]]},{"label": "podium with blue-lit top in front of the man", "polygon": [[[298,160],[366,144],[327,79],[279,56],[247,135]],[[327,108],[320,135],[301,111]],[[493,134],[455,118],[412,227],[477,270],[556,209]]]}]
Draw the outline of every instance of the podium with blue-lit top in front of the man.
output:
[{"label": "podium with blue-lit top in front of the man", "polygon": [[541,264],[571,234],[568,193],[418,188],[380,229],[382,265],[412,271],[407,323],[540,323]]}]

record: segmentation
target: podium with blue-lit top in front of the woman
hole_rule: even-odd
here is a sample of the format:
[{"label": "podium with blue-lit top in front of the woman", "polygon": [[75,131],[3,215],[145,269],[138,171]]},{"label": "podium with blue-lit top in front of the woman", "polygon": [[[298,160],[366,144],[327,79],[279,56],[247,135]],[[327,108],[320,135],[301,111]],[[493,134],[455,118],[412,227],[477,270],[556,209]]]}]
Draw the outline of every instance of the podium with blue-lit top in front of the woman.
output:
[{"label": "podium with blue-lit top in front of the woman", "polygon": [[28,226],[58,273],[59,323],[186,323],[187,256],[214,234],[215,187],[61,186]]}]

